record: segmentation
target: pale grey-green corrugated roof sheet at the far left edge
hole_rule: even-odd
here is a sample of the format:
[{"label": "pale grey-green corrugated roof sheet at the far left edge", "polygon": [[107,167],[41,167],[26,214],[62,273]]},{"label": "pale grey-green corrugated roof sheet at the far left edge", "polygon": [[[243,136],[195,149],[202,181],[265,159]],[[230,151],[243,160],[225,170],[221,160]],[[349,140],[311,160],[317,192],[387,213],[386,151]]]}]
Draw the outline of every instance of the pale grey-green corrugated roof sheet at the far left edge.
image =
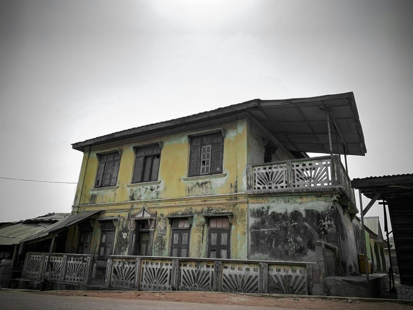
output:
[{"label": "pale grey-green corrugated roof sheet at the far left edge", "polygon": [[0,245],[18,244],[22,240],[29,238],[43,231],[45,227],[52,223],[18,223],[0,229]]}]

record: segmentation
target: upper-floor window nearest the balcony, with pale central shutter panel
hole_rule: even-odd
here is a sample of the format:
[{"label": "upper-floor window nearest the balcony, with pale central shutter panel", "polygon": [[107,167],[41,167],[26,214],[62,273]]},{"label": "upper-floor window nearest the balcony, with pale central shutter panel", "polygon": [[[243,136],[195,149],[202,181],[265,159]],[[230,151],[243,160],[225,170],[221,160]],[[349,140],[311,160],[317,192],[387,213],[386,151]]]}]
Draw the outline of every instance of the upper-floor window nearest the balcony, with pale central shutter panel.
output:
[{"label": "upper-floor window nearest the balcony, with pale central shutter panel", "polygon": [[189,176],[222,173],[223,149],[221,133],[191,137]]}]

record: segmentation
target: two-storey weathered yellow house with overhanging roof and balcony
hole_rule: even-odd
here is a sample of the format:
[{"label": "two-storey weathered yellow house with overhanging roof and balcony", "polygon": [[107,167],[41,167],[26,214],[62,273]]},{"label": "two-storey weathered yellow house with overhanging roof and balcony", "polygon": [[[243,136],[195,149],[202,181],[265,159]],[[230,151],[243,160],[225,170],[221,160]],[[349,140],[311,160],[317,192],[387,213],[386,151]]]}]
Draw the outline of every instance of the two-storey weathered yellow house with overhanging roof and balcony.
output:
[{"label": "two-storey weathered yellow house with overhanging roof and balcony", "polygon": [[256,99],[72,147],[84,154],[72,211],[90,216],[66,252],[92,254],[92,277],[111,255],[317,263],[317,246],[324,276],[358,271],[346,156],[366,148],[352,92]]}]

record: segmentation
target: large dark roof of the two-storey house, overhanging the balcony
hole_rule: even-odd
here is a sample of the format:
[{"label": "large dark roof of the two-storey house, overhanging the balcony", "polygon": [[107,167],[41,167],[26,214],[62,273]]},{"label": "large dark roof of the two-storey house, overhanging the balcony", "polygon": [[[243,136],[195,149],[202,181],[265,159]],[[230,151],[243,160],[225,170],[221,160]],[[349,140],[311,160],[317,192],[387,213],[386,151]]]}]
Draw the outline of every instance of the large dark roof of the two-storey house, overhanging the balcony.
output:
[{"label": "large dark roof of the two-storey house, overhanging the balcony", "polygon": [[[180,126],[196,124],[200,121],[209,121],[247,112],[281,142],[287,150],[329,154],[327,110],[330,111],[332,119],[335,120],[333,122],[336,122],[342,134],[342,138],[347,145],[347,154],[365,155],[367,151],[363,131],[352,92],[287,100],[254,99],[171,121],[158,122],[88,139],[73,143],[72,147],[83,152],[85,147],[93,145],[138,137],[162,130],[168,131]],[[333,128],[333,124],[331,124],[331,128]],[[332,136],[333,153],[338,154],[337,143],[334,143],[334,131],[332,131]],[[342,149],[340,153],[344,154]]]}]

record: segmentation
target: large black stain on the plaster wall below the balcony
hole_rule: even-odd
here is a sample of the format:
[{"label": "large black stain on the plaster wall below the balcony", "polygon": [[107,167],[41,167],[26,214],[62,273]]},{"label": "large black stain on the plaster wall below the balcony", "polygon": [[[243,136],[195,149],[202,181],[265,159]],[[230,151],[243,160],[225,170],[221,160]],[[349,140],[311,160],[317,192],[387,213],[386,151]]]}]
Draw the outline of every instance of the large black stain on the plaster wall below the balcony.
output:
[{"label": "large black stain on the plaster wall below the balcony", "polygon": [[315,251],[315,241],[336,243],[334,210],[277,213],[270,207],[250,210],[250,256],[301,260]]}]

